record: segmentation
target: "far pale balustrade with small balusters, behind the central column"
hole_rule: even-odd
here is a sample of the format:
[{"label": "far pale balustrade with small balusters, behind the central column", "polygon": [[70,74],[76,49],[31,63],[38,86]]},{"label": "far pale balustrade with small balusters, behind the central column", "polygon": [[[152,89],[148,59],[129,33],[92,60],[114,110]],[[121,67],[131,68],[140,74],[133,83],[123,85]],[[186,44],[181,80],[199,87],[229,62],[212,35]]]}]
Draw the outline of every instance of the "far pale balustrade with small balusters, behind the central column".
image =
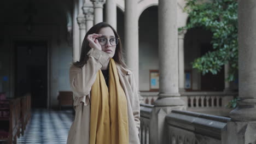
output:
[{"label": "far pale balustrade with small balusters, behind the central column", "polygon": [[[185,101],[188,111],[206,113],[209,115],[228,116],[231,109],[226,105],[237,93],[226,92],[183,92],[181,99]],[[141,92],[143,104],[153,105],[158,99],[157,92]]]}]

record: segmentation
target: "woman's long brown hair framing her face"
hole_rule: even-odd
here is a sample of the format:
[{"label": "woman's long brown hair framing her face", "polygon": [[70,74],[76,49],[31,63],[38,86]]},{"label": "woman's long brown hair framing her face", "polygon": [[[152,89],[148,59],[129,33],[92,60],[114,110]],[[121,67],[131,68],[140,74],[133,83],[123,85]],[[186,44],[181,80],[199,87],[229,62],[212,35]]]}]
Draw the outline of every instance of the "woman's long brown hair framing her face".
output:
[{"label": "woman's long brown hair framing her face", "polygon": [[86,54],[91,49],[91,47],[89,46],[89,41],[86,38],[88,37],[89,34],[93,34],[93,33],[98,34],[98,32],[100,32],[101,28],[104,28],[104,27],[110,27],[112,29],[112,31],[114,32],[115,37],[119,38],[117,47],[115,48],[115,55],[113,57],[114,61],[117,62],[118,64],[122,65],[124,68],[127,68],[126,64],[123,61],[122,44],[121,44],[120,37],[119,37],[118,33],[115,31],[115,29],[106,22],[97,23],[97,25],[91,27],[89,29],[89,31],[85,34],[83,44],[82,44],[81,53],[80,53],[80,59],[79,59],[79,61],[74,62],[73,65],[80,67],[80,68],[84,67],[84,64],[86,64],[89,59],[89,56]]}]

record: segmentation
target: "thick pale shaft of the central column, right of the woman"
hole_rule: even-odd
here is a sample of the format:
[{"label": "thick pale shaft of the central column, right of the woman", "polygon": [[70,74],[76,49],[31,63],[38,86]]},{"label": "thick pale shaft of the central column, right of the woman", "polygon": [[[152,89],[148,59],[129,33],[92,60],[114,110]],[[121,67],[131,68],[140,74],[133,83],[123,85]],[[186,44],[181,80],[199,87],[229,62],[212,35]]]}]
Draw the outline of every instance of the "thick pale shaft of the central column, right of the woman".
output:
[{"label": "thick pale shaft of the central column, right of the woman", "polygon": [[177,1],[159,1],[159,94],[179,96]]}]

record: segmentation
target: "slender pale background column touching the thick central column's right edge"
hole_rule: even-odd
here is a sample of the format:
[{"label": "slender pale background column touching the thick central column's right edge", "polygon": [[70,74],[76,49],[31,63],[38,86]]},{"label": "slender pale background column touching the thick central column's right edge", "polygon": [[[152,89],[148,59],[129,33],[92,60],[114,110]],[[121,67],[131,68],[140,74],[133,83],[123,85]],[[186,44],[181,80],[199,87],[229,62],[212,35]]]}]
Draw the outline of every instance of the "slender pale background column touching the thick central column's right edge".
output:
[{"label": "slender pale background column touching the thick central column's right edge", "polygon": [[180,31],[178,34],[179,47],[179,92],[184,92],[185,73],[184,73],[184,37],[186,31]]}]

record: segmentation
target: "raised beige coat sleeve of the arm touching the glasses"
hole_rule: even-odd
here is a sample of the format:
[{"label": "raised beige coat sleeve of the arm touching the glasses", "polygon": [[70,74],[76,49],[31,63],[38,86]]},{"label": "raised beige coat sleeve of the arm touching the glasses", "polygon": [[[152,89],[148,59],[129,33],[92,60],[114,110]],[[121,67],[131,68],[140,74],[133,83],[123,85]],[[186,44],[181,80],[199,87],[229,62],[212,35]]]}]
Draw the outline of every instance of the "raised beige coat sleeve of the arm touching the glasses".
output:
[{"label": "raised beige coat sleeve of the arm touching the glasses", "polygon": [[[91,49],[87,55],[89,59],[84,67],[79,68],[72,65],[69,69],[69,83],[74,97],[89,97],[91,87],[96,79],[97,71],[100,70],[110,58],[106,52],[97,49]],[[88,101],[85,105],[88,105]]]}]

